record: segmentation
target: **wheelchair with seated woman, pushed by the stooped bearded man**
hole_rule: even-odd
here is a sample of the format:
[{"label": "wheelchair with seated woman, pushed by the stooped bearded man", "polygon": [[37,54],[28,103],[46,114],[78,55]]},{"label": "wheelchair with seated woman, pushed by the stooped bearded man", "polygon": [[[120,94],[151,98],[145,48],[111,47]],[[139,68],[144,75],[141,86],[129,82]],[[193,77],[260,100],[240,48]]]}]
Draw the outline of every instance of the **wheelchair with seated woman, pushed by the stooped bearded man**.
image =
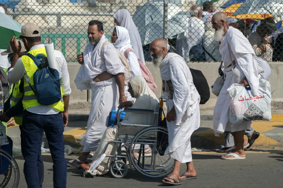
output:
[{"label": "wheelchair with seated woman, pushed by the stooped bearded man", "polygon": [[[117,122],[116,140],[107,142],[103,150],[103,153],[105,153],[109,143],[116,143],[114,155],[106,155],[106,157],[113,157],[109,169],[113,177],[123,178],[127,174],[126,160],[129,161],[132,170],[138,171],[146,177],[160,178],[171,174],[174,159],[164,154],[168,145],[168,131],[166,127],[158,126],[162,119],[162,108],[159,107],[158,113],[148,109],[125,108],[119,111],[118,120],[120,120],[120,115],[123,112],[141,115],[154,114],[156,126]],[[125,155],[118,155],[118,148],[122,143],[127,146],[127,149],[121,151]]]}]

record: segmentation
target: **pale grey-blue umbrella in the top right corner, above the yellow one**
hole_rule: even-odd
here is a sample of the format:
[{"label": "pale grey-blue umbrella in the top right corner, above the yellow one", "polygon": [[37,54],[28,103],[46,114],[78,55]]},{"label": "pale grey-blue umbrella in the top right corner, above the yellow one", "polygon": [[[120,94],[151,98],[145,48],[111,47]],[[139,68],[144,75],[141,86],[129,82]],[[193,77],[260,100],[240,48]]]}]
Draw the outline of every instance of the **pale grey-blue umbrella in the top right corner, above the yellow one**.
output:
[{"label": "pale grey-blue umbrella in the top right corner, above the yellow one", "polygon": [[283,0],[248,0],[234,12],[234,15],[245,14],[271,14],[273,17],[281,17],[283,15]]}]

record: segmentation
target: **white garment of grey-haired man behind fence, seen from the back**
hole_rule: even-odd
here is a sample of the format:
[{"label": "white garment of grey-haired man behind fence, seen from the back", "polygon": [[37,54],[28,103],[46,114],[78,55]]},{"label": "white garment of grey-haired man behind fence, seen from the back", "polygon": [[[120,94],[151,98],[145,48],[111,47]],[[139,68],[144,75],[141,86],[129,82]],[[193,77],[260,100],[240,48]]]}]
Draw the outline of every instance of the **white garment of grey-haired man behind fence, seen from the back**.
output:
[{"label": "white garment of grey-haired man behind fence, seen from the back", "polygon": [[184,23],[186,30],[177,35],[176,50],[188,62],[190,49],[201,42],[205,31],[204,22],[195,16],[186,18]]}]

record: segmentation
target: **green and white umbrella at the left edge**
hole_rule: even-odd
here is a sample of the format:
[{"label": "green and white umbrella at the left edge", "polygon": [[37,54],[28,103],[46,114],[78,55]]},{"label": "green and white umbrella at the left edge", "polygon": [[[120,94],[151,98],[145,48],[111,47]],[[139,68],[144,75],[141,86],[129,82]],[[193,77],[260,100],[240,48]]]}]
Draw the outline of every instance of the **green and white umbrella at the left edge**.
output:
[{"label": "green and white umbrella at the left edge", "polygon": [[6,49],[13,36],[21,34],[22,26],[7,14],[0,12],[0,49]]}]

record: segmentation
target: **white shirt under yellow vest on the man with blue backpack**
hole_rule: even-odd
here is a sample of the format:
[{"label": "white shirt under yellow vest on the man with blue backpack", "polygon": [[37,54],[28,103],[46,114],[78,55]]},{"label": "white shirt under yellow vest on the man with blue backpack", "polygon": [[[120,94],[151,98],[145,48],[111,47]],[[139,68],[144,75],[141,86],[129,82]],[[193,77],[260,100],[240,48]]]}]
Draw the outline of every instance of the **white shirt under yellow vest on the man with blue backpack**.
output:
[{"label": "white shirt under yellow vest on the man with blue backpack", "polygon": [[[30,50],[44,48],[43,44],[35,45],[30,48]],[[62,52],[55,50],[55,58],[58,63],[58,72],[60,77],[60,83],[62,87],[62,95],[70,95],[71,88],[70,88],[70,78],[68,73],[67,62],[65,57],[63,56]],[[22,62],[22,58],[19,58],[16,62],[14,68],[10,68],[8,72],[8,81],[10,83],[17,83],[23,76],[27,77],[27,72],[24,68],[24,64]],[[26,109],[27,111],[35,114],[57,114],[60,110],[52,108],[50,106],[39,105],[34,106]]]}]

